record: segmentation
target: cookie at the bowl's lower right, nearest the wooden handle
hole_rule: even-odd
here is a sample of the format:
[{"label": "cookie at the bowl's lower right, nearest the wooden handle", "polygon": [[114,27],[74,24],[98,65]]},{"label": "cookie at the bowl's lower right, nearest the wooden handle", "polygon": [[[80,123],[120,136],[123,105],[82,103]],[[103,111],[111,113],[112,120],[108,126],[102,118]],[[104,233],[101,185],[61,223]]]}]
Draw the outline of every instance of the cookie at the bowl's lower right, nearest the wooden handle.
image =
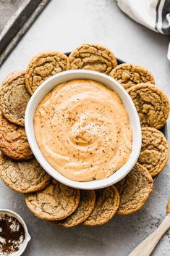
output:
[{"label": "cookie at the bowl's lower right, nearest the wooden handle", "polygon": [[128,215],[137,212],[145,205],[152,190],[153,178],[148,170],[137,162],[125,178],[117,213]]}]

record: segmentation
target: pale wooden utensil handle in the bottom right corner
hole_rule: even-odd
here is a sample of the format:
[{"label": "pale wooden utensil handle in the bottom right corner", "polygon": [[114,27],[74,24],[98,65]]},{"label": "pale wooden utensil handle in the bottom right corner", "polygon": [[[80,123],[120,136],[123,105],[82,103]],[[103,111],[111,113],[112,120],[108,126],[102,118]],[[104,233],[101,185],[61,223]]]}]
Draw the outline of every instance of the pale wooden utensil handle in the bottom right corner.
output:
[{"label": "pale wooden utensil handle in the bottom right corner", "polygon": [[170,228],[170,216],[166,215],[166,218],[162,221],[160,226],[150,234],[145,240],[143,240],[128,256],[150,256],[153,249],[158,244],[163,234]]}]

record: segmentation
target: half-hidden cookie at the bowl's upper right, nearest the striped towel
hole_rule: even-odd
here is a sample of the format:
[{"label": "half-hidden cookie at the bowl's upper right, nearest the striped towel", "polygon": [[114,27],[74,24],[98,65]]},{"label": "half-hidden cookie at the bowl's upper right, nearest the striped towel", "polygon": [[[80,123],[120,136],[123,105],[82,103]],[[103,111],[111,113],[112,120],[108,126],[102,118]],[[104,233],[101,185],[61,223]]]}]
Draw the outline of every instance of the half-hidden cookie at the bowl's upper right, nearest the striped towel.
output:
[{"label": "half-hidden cookie at the bowl's upper right, nearest the striped towel", "polygon": [[135,86],[137,83],[149,82],[155,84],[150,71],[145,70],[144,67],[140,67],[139,65],[129,63],[123,63],[115,67],[111,72],[111,77],[121,83],[125,89]]}]

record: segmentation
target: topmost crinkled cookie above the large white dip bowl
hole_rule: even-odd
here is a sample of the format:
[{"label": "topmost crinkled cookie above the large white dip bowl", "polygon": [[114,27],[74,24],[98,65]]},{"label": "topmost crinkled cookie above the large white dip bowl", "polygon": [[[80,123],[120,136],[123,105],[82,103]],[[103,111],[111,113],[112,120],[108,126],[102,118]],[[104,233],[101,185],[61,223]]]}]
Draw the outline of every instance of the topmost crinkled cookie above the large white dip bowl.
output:
[{"label": "topmost crinkled cookie above the large white dip bowl", "polygon": [[70,70],[93,70],[109,75],[116,65],[114,54],[98,44],[83,44],[69,54]]}]

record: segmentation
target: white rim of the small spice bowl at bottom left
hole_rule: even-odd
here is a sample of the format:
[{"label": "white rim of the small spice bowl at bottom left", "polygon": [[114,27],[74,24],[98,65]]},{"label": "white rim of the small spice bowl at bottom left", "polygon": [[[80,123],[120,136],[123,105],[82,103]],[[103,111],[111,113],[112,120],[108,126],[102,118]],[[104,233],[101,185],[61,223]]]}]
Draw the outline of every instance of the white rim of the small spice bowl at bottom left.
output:
[{"label": "white rim of the small spice bowl at bottom left", "polygon": [[22,244],[20,244],[20,249],[17,252],[14,252],[14,253],[11,254],[11,256],[20,256],[25,251],[28,241],[30,241],[30,234],[27,231],[27,226],[25,224],[25,221],[21,218],[20,215],[17,214],[17,212],[13,212],[12,210],[0,209],[0,215],[1,214],[3,214],[3,215],[7,214],[8,216],[12,216],[14,218],[17,218],[17,220],[20,221],[21,225],[24,228],[25,239],[22,242]]}]

